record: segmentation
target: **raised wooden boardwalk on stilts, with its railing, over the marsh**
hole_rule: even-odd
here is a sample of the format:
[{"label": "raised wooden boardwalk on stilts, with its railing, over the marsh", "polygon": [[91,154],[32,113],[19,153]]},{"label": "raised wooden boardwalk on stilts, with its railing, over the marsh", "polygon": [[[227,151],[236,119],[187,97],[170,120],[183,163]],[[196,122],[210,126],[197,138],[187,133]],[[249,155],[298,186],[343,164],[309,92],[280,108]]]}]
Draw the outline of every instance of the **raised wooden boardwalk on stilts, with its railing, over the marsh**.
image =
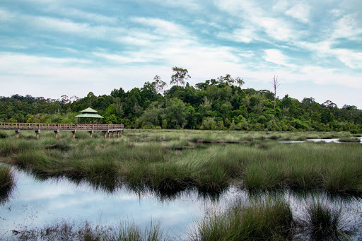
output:
[{"label": "raised wooden boardwalk on stilts, with its railing, over the marsh", "polygon": [[16,138],[19,137],[21,130],[33,130],[39,139],[40,130],[54,131],[55,138],[57,138],[59,131],[71,131],[73,138],[75,138],[76,131],[88,131],[89,136],[92,138],[94,131],[102,131],[105,138],[112,136],[119,136],[124,130],[123,124],[49,124],[49,123],[5,123],[0,122],[0,129],[14,130]]}]

